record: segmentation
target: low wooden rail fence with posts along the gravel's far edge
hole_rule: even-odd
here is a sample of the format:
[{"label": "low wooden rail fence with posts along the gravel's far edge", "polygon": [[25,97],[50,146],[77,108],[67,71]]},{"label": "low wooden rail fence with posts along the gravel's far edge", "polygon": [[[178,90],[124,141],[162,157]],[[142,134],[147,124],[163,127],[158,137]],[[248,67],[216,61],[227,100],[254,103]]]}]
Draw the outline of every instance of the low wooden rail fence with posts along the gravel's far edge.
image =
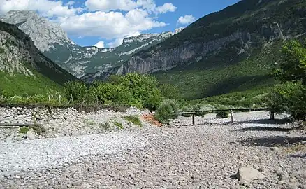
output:
[{"label": "low wooden rail fence with posts along the gravel's far edge", "polygon": [[233,111],[270,111],[270,120],[274,120],[275,113],[268,108],[258,108],[258,109],[214,109],[214,110],[207,110],[207,111],[173,111],[174,113],[180,114],[189,114],[192,115],[192,125],[194,125],[194,115],[198,115],[199,113],[212,113],[212,112],[219,112],[219,111],[230,111],[231,114],[231,123],[233,123]]}]

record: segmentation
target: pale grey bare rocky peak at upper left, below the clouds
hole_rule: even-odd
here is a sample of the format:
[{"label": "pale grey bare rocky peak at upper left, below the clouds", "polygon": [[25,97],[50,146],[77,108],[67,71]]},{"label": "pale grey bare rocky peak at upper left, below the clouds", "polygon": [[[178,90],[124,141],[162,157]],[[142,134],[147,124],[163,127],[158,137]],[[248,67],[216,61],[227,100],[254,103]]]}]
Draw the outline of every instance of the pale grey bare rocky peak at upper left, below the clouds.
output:
[{"label": "pale grey bare rocky peak at upper left, below the clouds", "polygon": [[63,45],[73,43],[69,40],[66,31],[54,22],[39,16],[35,11],[13,10],[3,15],[0,20],[16,25],[28,34],[34,44],[42,52],[54,48],[54,43]]}]

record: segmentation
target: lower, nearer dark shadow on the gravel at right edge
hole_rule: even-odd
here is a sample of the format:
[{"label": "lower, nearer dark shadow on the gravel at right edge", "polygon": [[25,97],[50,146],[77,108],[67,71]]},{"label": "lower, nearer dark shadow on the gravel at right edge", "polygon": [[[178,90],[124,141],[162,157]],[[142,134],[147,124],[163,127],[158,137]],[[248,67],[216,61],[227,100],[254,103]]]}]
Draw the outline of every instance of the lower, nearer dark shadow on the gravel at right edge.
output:
[{"label": "lower, nearer dark shadow on the gravel at right edge", "polygon": [[256,139],[245,139],[240,141],[243,146],[288,146],[292,144],[298,144],[300,141],[305,141],[306,137],[261,137]]}]

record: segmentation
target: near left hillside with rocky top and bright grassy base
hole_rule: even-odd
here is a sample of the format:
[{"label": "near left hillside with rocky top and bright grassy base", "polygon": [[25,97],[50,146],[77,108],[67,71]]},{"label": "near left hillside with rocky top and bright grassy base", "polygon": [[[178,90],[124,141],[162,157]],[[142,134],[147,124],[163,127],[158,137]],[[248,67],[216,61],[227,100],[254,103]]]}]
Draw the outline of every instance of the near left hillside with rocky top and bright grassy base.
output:
[{"label": "near left hillside with rocky top and bright grassy base", "polygon": [[43,94],[76,78],[39,51],[15,25],[0,22],[0,92]]}]

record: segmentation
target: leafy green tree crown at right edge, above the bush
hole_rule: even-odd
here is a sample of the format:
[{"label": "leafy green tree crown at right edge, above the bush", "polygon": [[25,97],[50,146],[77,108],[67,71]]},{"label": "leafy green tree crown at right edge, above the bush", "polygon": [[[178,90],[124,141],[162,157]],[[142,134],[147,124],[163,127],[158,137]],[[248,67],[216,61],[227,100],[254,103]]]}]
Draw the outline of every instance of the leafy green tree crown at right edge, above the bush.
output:
[{"label": "leafy green tree crown at right edge, above the bush", "polygon": [[306,48],[298,41],[289,41],[282,47],[282,62],[275,72],[283,83],[301,81],[306,84]]}]

